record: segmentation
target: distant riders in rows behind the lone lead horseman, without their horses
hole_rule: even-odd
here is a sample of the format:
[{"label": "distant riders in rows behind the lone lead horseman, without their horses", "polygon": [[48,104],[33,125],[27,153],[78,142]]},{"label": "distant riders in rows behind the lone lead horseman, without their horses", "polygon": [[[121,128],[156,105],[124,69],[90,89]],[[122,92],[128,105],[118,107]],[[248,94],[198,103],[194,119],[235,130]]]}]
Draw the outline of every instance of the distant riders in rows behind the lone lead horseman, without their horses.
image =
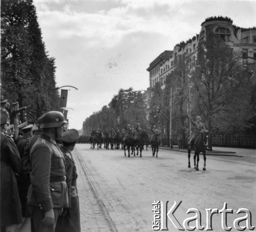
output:
[{"label": "distant riders in rows behind the lone lead horseman, without their horses", "polygon": [[[142,133],[142,131],[146,132],[145,129],[142,129],[140,126],[140,123],[137,123],[135,130],[134,128],[131,127],[131,124],[128,124],[127,126],[124,126],[125,128],[123,128],[121,131],[119,130],[119,128],[117,127],[116,130],[114,130],[114,128],[111,129],[111,131],[108,130],[108,128],[106,128],[105,131],[102,131],[100,128],[98,129],[92,129],[92,133],[91,136],[96,136],[96,134],[98,133],[104,133],[107,137],[109,135],[111,135],[112,138],[114,138],[116,135],[120,135],[121,137],[123,137],[123,141],[125,141],[127,138],[129,137],[134,137],[135,141],[137,141],[139,139],[139,135]],[[153,134],[151,135],[151,141],[154,139],[154,137],[159,134],[159,130],[156,128],[156,126],[154,125],[151,128],[151,131],[153,132]]]}]

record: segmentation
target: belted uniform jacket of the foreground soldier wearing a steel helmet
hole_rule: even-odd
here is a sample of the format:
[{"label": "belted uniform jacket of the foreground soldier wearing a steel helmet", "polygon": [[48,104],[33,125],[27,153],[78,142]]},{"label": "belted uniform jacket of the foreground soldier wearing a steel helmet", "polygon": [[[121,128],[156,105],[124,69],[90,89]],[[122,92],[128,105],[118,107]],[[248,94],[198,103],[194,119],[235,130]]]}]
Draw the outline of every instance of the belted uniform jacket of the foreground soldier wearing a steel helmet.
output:
[{"label": "belted uniform jacket of the foreground soldier wearing a steel helmet", "polygon": [[41,134],[30,151],[30,161],[28,204],[44,212],[52,208],[68,208],[65,159],[55,140]]}]

